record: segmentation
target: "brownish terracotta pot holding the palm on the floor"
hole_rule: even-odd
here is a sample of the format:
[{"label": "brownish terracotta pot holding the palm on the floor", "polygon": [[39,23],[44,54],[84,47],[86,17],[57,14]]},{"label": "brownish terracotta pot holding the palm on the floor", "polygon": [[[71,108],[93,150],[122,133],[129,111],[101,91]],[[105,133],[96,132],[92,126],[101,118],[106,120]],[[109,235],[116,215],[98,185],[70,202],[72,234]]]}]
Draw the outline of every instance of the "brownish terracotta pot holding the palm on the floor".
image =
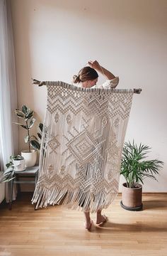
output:
[{"label": "brownish terracotta pot holding the palm on the floor", "polygon": [[123,183],[121,206],[126,210],[142,210],[142,185],[127,188],[127,183]]}]

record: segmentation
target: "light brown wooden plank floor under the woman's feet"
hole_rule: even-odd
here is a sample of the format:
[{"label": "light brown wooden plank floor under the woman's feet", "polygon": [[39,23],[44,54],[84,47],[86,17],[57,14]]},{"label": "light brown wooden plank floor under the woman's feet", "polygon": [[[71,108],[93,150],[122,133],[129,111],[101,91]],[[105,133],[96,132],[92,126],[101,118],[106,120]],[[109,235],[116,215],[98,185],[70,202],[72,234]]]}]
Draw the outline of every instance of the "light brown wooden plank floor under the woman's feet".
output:
[{"label": "light brown wooden plank floor under the woman's feet", "polygon": [[[54,206],[34,210],[22,193],[13,209],[0,205],[0,255],[166,256],[167,195],[143,196],[144,210],[120,207],[120,195],[104,210],[108,223],[84,229],[81,211]],[[95,215],[92,215],[93,220]]]}]

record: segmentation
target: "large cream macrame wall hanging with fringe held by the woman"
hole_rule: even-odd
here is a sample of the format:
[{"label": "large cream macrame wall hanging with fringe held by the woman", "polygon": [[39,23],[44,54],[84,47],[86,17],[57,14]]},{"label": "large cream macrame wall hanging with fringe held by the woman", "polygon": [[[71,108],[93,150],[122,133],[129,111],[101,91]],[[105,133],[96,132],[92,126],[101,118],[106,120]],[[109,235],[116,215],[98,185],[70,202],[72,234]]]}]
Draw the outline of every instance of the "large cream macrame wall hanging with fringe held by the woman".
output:
[{"label": "large cream macrame wall hanging with fringe held by the woman", "polygon": [[47,112],[32,202],[36,208],[61,202],[91,213],[107,208],[118,193],[134,90],[43,84]]}]

